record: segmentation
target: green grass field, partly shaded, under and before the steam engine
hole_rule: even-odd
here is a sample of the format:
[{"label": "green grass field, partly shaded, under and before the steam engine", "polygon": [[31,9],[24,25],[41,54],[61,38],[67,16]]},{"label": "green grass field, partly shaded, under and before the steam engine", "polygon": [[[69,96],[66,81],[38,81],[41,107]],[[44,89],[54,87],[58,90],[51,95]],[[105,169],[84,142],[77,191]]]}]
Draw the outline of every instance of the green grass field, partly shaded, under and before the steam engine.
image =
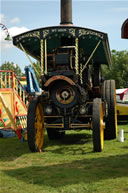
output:
[{"label": "green grass field, partly shaded, under and before the steam engine", "polygon": [[44,151],[27,142],[0,139],[0,193],[128,193],[128,122],[125,142],[105,141],[94,153],[92,132],[68,132],[62,141],[45,137]]}]

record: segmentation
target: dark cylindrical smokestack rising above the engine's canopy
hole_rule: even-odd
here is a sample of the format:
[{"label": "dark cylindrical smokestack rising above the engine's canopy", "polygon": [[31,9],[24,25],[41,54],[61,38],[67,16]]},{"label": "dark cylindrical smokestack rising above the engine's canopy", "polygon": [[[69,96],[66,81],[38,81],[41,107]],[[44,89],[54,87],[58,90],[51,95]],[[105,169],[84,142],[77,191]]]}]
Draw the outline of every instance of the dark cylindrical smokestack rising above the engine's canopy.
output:
[{"label": "dark cylindrical smokestack rising above the engine's canopy", "polygon": [[72,0],[61,0],[61,25],[73,25]]}]

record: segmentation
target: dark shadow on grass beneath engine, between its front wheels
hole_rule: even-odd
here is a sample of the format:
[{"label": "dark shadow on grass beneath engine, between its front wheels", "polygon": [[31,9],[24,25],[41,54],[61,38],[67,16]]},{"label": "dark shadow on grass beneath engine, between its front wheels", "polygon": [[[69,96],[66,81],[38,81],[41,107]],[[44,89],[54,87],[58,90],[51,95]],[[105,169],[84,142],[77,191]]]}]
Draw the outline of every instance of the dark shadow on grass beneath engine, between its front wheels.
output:
[{"label": "dark shadow on grass beneath engine, between its front wheels", "polygon": [[[86,144],[88,144],[87,148],[85,148],[84,146]],[[65,154],[65,153],[72,155],[88,154],[92,153],[92,147],[90,147],[89,144],[92,145],[92,134],[72,133],[66,134],[66,136],[61,140],[47,139],[44,151],[56,154]]]}]

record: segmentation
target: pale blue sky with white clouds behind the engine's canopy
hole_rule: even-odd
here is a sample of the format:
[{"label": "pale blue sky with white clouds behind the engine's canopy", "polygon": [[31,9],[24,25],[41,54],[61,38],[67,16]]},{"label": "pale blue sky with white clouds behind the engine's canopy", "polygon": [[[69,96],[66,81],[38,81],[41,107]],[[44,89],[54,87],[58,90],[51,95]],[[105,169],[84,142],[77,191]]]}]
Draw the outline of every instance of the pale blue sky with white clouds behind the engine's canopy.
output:
[{"label": "pale blue sky with white clouds behind the engine's canopy", "polygon": [[[128,51],[128,40],[121,39],[121,26],[128,18],[128,0],[72,0],[72,12],[75,26],[105,32],[111,50]],[[60,0],[0,0],[0,23],[8,28],[11,36],[59,25]],[[5,41],[5,37],[5,31],[0,28],[0,65],[13,62],[24,72],[29,60],[12,42]]]}]

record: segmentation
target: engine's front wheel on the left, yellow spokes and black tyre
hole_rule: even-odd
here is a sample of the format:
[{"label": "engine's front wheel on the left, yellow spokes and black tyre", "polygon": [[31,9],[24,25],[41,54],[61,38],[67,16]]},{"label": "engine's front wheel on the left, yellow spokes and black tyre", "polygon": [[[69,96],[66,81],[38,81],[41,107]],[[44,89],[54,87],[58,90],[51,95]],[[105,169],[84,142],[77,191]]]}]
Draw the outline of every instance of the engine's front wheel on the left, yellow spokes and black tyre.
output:
[{"label": "engine's front wheel on the left, yellow spokes and black tyre", "polygon": [[44,142],[44,112],[40,102],[34,99],[28,108],[28,145],[32,152],[41,152]]}]

